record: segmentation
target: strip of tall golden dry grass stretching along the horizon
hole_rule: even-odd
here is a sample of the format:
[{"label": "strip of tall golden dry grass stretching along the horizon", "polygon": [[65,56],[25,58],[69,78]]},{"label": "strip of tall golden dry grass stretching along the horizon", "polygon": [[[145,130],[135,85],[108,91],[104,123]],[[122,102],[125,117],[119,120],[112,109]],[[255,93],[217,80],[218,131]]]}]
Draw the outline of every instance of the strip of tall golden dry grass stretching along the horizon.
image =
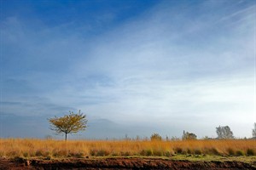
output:
[{"label": "strip of tall golden dry grass stretching along the horizon", "polygon": [[0,139],[0,157],[256,156],[255,140],[68,140]]}]

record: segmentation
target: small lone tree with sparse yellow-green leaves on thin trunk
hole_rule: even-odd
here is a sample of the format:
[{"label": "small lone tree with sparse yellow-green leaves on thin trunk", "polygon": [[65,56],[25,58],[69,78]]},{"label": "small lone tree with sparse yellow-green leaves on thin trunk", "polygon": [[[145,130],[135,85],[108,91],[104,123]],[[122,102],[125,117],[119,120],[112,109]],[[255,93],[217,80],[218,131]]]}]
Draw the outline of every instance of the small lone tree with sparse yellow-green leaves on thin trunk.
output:
[{"label": "small lone tree with sparse yellow-green leaves on thin trunk", "polygon": [[80,110],[77,114],[69,111],[69,115],[50,118],[49,124],[50,129],[56,133],[65,133],[65,140],[67,140],[68,133],[79,133],[79,131],[85,130],[87,119]]}]

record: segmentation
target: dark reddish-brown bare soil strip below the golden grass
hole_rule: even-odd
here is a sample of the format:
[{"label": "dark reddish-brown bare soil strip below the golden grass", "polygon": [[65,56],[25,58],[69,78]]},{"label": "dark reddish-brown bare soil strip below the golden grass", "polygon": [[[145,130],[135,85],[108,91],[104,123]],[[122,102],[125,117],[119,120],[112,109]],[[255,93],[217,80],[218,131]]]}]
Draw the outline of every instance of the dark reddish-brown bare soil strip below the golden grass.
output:
[{"label": "dark reddish-brown bare soil strip below the golden grass", "polygon": [[61,160],[0,159],[0,170],[96,170],[96,169],[184,169],[184,170],[256,170],[256,161],[249,164],[241,161],[175,161],[160,158],[73,158]]}]

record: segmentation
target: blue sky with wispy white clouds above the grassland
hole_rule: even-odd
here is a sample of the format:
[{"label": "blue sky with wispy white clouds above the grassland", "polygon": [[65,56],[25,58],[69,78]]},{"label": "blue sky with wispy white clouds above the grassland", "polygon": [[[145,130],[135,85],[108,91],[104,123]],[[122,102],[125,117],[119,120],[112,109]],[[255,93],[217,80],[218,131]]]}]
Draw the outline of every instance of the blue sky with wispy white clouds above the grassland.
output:
[{"label": "blue sky with wispy white clouds above the grassland", "polygon": [[68,138],[252,137],[255,1],[0,2],[1,138],[63,138],[47,119],[79,110]]}]

